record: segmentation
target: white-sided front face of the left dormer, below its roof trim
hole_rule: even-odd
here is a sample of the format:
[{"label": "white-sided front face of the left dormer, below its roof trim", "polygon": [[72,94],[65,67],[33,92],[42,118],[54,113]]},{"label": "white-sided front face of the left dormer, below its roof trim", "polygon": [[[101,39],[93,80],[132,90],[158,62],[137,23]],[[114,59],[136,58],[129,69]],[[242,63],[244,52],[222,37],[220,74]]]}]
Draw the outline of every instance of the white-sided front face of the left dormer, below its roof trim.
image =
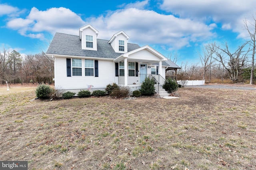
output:
[{"label": "white-sided front face of the left dormer, below its roof trim", "polygon": [[[86,35],[87,35],[87,41],[86,41]],[[92,36],[92,39],[91,39]],[[90,37],[90,38],[89,38]],[[88,39],[89,38],[89,39]],[[88,41],[90,40],[90,41]],[[88,47],[86,47],[86,42],[91,43],[92,42],[92,46],[89,45],[87,43],[87,45],[89,45]],[[91,29],[91,28],[86,28],[82,31],[82,39],[81,39],[81,43],[82,43],[82,49],[86,49],[86,50],[95,50],[97,51],[97,39],[96,39],[96,33]]]}]

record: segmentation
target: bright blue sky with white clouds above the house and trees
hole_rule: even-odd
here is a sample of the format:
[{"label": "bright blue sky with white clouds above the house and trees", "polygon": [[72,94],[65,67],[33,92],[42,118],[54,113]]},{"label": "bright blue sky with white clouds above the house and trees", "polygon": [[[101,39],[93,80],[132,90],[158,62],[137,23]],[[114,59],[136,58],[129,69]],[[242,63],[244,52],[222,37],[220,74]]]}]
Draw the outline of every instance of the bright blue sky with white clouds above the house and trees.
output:
[{"label": "bright blue sky with white clouds above the house and trees", "polygon": [[256,0],[0,0],[0,51],[22,55],[46,52],[54,33],[78,35],[90,23],[99,39],[123,30],[129,43],[150,45],[177,64],[199,63],[206,43],[246,41],[246,18],[256,15]]}]

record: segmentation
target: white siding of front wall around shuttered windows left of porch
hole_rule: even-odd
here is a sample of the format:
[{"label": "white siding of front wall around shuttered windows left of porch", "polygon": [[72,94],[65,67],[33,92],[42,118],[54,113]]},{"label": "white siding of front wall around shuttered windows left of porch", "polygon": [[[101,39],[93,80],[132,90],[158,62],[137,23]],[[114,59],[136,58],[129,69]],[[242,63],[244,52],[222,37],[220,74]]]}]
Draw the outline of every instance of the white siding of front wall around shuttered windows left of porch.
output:
[{"label": "white siding of front wall around shuttered windows left of porch", "polygon": [[[66,58],[55,57],[56,67],[54,72],[55,87],[63,90],[82,90],[87,89],[88,85],[92,85],[93,89],[104,89],[106,86],[113,82],[113,62],[98,60],[98,77],[85,76],[82,71],[82,76],[67,77],[66,71]],[[82,68],[84,68],[84,59],[82,59]]]}]

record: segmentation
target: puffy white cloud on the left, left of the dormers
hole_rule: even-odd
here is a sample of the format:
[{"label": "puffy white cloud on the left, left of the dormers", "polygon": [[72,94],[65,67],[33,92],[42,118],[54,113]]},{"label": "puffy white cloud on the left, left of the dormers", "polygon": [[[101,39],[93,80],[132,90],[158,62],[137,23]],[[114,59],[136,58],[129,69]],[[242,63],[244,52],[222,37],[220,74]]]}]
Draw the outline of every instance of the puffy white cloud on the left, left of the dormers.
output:
[{"label": "puffy white cloud on the left, left of the dormers", "polygon": [[33,7],[25,19],[12,18],[6,26],[18,30],[21,35],[44,39],[42,33],[44,31],[77,35],[78,28],[84,24],[85,22],[80,16],[67,8],[50,8],[46,11],[39,11]]}]

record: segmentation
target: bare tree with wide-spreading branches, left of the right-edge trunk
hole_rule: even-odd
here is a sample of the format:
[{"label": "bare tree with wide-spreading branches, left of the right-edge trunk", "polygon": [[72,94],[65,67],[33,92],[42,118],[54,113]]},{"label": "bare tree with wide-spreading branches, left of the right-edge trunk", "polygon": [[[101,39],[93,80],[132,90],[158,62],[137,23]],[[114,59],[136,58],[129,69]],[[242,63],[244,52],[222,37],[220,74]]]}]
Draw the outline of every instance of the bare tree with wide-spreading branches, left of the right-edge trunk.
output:
[{"label": "bare tree with wide-spreading branches, left of the right-edge trunk", "polygon": [[234,83],[238,82],[238,77],[243,73],[242,68],[244,67],[249,52],[243,51],[246,45],[247,42],[239,46],[234,53],[230,52],[227,43],[223,48],[216,44],[211,44],[210,46],[216,55],[214,59],[222,64],[223,68],[227,71],[228,76]]}]

